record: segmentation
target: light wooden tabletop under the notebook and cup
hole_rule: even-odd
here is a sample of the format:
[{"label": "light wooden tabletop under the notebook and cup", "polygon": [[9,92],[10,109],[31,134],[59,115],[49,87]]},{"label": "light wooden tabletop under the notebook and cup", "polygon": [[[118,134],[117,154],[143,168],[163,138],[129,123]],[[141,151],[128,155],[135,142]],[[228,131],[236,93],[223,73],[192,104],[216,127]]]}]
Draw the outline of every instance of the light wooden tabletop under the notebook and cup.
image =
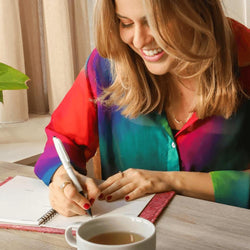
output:
[{"label": "light wooden tabletop under the notebook and cup", "polygon": [[[33,167],[0,162],[0,181],[35,177]],[[156,222],[157,250],[250,249],[250,210],[176,195]],[[64,235],[0,229],[0,249],[73,249]]]}]

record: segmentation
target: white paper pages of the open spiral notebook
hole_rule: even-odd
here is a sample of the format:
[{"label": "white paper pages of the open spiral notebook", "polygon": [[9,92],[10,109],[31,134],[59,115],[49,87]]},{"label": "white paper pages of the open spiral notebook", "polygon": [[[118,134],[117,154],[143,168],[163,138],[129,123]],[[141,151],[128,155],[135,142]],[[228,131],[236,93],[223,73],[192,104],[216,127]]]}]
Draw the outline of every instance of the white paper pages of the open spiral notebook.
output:
[{"label": "white paper pages of the open spiral notebook", "polygon": [[[37,225],[37,220],[51,209],[48,197],[49,189],[41,180],[16,176],[0,187],[0,221]],[[93,217],[108,214],[138,216],[152,197],[148,195],[129,202],[96,200],[91,210]],[[65,229],[68,225],[90,219],[88,215],[64,217],[57,214],[44,226]]]}]

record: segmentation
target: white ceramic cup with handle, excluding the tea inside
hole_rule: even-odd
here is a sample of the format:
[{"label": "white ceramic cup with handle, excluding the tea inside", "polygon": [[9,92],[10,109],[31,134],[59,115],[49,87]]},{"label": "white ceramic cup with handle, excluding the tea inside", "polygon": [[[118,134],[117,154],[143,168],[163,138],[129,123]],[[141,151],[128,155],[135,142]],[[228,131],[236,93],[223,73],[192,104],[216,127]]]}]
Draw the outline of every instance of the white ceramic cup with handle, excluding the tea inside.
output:
[{"label": "white ceramic cup with handle, excluding the tea inside", "polygon": [[[65,239],[72,247],[80,250],[154,250],[156,247],[155,226],[150,221],[129,215],[107,215],[83,222],[72,235],[75,225],[65,230]],[[129,232],[139,234],[142,240],[120,245],[104,245],[89,241],[94,236],[105,233]]]}]

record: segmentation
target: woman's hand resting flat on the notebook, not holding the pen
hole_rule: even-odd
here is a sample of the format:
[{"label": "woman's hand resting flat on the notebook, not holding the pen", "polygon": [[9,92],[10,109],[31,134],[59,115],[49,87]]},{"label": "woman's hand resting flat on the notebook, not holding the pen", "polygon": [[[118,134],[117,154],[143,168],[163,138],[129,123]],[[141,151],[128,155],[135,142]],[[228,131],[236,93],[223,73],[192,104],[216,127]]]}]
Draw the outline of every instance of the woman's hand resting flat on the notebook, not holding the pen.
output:
[{"label": "woman's hand resting flat on the notebook, not holding the pen", "polygon": [[145,194],[171,190],[170,172],[150,171],[143,169],[127,169],[109,177],[99,185],[99,199],[114,201],[121,198],[134,200]]}]

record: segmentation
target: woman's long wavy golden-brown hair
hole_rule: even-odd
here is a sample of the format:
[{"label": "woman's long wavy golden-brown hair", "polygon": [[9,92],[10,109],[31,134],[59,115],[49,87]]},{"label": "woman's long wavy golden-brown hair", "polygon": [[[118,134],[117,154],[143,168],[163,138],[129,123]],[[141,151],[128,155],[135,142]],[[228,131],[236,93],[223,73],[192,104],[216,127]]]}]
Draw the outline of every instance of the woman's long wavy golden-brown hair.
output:
[{"label": "woman's long wavy golden-brown hair", "polygon": [[[198,79],[198,117],[231,116],[239,105],[240,85],[234,73],[237,55],[230,21],[220,0],[144,3],[157,44],[178,62],[174,74]],[[101,100],[131,118],[162,112],[171,96],[172,77],[151,74],[140,56],[122,42],[114,1],[97,1],[94,25],[97,50],[110,59],[114,78]]]}]

